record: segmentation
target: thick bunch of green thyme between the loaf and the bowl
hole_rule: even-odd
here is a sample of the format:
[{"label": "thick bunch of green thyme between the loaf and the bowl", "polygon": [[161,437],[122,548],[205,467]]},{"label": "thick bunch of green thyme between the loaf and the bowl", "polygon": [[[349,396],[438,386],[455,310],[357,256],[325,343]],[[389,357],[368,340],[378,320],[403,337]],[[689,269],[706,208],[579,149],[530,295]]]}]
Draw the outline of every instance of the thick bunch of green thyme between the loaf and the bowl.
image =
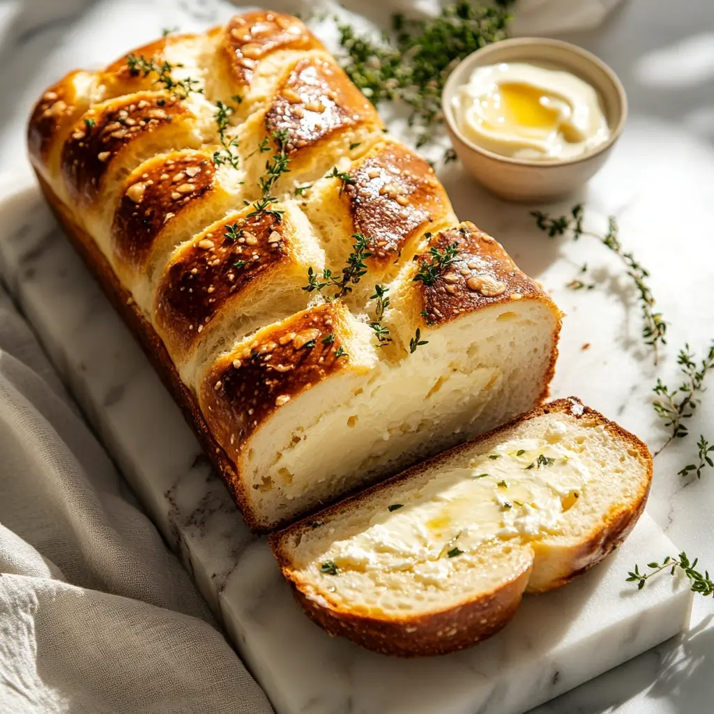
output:
[{"label": "thick bunch of green thyme between the loaf and the bowl", "polygon": [[426,144],[433,124],[441,124],[441,92],[453,68],[471,52],[506,37],[511,19],[508,1],[474,6],[460,0],[433,19],[392,19],[392,32],[376,44],[340,25],[340,44],[347,51],[343,69],[373,103],[398,100],[411,109],[409,124]]}]

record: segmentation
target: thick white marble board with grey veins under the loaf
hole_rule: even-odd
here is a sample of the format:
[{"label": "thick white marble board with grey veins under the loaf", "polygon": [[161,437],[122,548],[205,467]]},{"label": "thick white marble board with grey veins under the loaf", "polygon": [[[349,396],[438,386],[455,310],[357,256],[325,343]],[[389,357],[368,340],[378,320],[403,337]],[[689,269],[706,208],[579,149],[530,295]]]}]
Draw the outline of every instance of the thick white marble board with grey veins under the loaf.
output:
[{"label": "thick white marble board with grey veins under the loaf", "polygon": [[398,660],[329,638],[293,601],[159,378],[54,224],[34,186],[4,203],[4,276],[51,358],[278,714],[520,714],[685,626],[690,593],[638,592],[635,562],[675,552],[644,516],[613,558],[526,598],[506,630],[456,655]]}]

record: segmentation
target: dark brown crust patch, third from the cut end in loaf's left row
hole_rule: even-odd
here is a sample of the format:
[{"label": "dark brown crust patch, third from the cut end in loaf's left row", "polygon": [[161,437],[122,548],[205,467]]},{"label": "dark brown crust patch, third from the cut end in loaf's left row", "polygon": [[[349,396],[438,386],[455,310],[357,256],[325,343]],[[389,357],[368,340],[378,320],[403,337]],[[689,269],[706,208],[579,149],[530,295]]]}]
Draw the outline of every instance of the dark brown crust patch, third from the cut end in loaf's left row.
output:
[{"label": "dark brown crust patch, third from the cut end in loaf's left row", "polygon": [[216,169],[200,151],[174,151],[141,165],[124,183],[111,239],[116,256],[140,270],[156,237],[213,188]]}]

